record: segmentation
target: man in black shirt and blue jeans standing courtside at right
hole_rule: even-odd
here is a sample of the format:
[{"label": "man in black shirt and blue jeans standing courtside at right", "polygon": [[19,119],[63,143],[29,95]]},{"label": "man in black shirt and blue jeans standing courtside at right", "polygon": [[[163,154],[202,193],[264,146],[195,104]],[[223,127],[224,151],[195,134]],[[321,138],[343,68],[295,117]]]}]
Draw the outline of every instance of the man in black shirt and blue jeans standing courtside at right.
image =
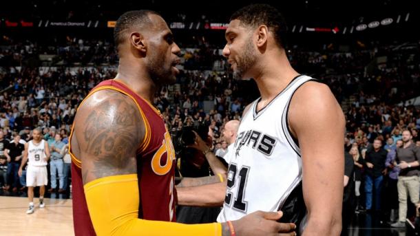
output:
[{"label": "man in black shirt and blue jeans standing courtside at right", "polygon": [[372,191],[375,188],[375,210],[381,206],[381,188],[386,173],[386,150],[382,148],[382,141],[378,138],[373,142],[373,148],[366,151],[366,158],[361,159],[366,168],[365,193],[366,211],[372,209]]}]

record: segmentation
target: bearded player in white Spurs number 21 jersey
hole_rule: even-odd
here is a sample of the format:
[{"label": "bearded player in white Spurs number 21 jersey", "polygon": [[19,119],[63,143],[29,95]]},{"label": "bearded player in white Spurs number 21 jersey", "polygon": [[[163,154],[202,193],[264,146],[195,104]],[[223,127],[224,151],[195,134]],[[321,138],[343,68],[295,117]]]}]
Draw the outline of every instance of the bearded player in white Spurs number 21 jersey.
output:
[{"label": "bearded player in white Spurs number 21 jersey", "polygon": [[263,4],[235,12],[225,33],[223,55],[238,78],[255,80],[261,97],[246,107],[227,153],[218,222],[280,209],[297,233],[339,235],[344,114],[328,86],[291,67],[285,34],[282,15]]}]

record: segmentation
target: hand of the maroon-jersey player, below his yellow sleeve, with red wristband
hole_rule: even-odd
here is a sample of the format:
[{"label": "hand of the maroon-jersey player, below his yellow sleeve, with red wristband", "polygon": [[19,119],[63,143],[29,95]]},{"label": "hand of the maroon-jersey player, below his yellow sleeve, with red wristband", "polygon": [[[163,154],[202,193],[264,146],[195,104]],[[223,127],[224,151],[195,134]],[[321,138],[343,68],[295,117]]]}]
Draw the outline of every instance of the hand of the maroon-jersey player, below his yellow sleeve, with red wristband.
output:
[{"label": "hand of the maroon-jersey player, below his yellow sleeve, with red wristband", "polygon": [[276,222],[283,216],[279,212],[255,211],[232,222],[236,235],[296,235],[295,224]]}]

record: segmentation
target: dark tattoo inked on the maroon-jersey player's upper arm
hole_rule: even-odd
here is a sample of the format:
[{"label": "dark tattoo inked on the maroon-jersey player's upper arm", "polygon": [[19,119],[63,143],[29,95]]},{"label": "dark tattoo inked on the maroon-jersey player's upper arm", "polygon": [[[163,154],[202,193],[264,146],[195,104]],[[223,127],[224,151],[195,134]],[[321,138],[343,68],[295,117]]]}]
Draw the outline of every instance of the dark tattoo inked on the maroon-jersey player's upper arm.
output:
[{"label": "dark tattoo inked on the maroon-jersey player's upper arm", "polygon": [[88,173],[95,178],[137,173],[136,151],[143,138],[138,107],[119,92],[109,94],[112,99],[94,107],[84,120],[85,153],[94,165],[84,173],[83,182]]}]

